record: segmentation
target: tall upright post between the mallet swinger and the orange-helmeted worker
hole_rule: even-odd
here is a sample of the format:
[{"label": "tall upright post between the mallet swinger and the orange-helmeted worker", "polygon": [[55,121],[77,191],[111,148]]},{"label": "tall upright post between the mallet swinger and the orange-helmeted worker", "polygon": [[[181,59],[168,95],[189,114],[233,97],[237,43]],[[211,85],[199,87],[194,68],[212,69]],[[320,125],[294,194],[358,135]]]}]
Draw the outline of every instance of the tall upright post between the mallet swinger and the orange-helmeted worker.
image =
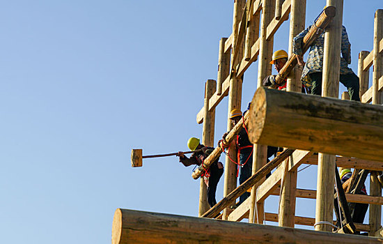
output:
[{"label": "tall upright post between the mallet swinger and the orange-helmeted worker", "polygon": [[[234,45],[237,42],[238,36],[238,24],[240,24],[243,8],[245,6],[246,0],[235,0],[234,2],[234,14],[233,14],[233,45],[232,53],[236,48]],[[233,56],[233,55],[232,55]],[[240,47],[240,52],[237,55],[237,59],[242,59],[243,57],[243,44]],[[233,58],[232,58],[233,59]],[[231,65],[235,61],[231,60]],[[241,100],[242,100],[242,78],[237,79],[235,74],[232,74],[230,77],[230,88],[228,94],[228,118],[230,117],[230,112],[233,109],[241,109]],[[228,131],[231,130],[232,125],[230,119],[228,119]],[[237,158],[237,148],[235,147],[235,142],[230,144],[230,158]],[[237,165],[230,161],[230,158],[226,156],[225,162],[225,182],[224,182],[224,197],[226,197],[230,192],[232,192],[237,187]],[[224,215],[222,219],[227,220],[228,209],[224,209]]]}]

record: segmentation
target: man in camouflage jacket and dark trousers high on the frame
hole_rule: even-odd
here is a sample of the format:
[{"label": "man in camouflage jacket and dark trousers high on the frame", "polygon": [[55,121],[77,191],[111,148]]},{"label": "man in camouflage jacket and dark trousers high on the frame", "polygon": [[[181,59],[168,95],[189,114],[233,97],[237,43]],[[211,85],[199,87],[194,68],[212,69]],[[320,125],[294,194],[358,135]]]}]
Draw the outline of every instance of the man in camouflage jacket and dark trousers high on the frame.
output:
[{"label": "man in camouflage jacket and dark trousers high on the frame", "polygon": [[[323,72],[323,53],[325,45],[325,32],[323,32],[311,45],[306,63],[303,61],[302,40],[311,26],[295,36],[292,43],[292,52],[297,54],[298,64],[304,66],[302,72],[302,82],[311,89],[311,94],[321,95],[322,93],[322,72]],[[342,26],[341,44],[341,72],[339,81],[347,88],[350,100],[360,101],[359,98],[359,78],[348,68],[351,63],[351,44],[348,40],[345,26]]]}]

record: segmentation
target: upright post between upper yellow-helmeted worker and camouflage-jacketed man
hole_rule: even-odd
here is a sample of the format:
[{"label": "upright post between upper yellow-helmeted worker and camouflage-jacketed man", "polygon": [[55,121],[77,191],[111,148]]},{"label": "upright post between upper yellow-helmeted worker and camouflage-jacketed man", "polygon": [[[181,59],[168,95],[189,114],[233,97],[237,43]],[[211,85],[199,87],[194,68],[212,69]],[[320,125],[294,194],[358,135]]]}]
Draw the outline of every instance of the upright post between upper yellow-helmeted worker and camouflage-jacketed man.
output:
[{"label": "upright post between upper yellow-helmeted worker and camouflage-jacketed man", "polygon": [[[306,0],[292,0],[290,12],[290,33],[288,54],[292,55],[292,39],[304,30],[306,17]],[[302,71],[298,66],[290,73],[288,77],[287,91],[302,91],[301,81]],[[290,156],[290,162],[292,157]],[[279,206],[279,226],[294,227],[295,220],[295,195],[297,190],[297,171],[287,172],[283,177],[281,184],[281,201]]]}]

